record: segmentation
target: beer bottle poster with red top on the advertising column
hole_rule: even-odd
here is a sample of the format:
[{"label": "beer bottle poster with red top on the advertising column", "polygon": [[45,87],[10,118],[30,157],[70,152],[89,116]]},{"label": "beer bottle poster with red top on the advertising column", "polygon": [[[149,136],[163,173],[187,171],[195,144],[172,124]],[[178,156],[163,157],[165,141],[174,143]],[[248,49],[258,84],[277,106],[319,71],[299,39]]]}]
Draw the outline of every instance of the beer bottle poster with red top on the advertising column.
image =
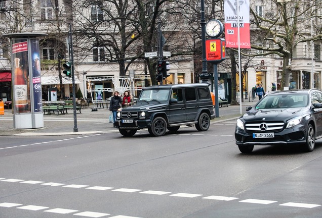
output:
[{"label": "beer bottle poster with red top on the advertising column", "polygon": [[15,114],[30,113],[31,106],[27,39],[13,40],[12,57],[14,65],[13,94],[15,100]]}]

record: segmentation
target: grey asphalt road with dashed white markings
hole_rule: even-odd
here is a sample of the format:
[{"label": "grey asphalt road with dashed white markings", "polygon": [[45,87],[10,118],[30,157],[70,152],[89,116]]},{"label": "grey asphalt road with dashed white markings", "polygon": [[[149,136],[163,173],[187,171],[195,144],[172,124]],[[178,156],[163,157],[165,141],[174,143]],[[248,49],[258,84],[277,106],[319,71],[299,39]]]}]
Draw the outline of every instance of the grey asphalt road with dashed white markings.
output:
[{"label": "grey asphalt road with dashed white markings", "polygon": [[234,127],[2,136],[0,217],[321,217],[321,143],[242,154]]}]

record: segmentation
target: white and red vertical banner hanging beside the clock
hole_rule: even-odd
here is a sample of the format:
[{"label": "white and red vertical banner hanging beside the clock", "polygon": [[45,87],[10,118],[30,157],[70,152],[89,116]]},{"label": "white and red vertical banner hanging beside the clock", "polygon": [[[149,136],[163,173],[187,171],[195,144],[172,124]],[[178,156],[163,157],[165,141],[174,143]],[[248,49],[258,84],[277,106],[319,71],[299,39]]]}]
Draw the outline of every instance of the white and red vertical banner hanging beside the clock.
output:
[{"label": "white and red vertical banner hanging beside the clock", "polygon": [[238,47],[239,15],[240,48],[251,48],[249,0],[224,0],[224,14],[226,47]]}]

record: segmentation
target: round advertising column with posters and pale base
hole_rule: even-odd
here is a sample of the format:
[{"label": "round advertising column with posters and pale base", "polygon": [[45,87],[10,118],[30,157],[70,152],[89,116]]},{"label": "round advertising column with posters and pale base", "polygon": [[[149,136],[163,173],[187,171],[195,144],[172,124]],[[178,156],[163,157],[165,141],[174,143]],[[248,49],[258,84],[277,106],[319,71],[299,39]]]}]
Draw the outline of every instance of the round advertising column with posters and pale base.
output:
[{"label": "round advertising column with posters and pale base", "polygon": [[44,127],[39,40],[41,33],[12,33],[11,38],[14,128]]}]

